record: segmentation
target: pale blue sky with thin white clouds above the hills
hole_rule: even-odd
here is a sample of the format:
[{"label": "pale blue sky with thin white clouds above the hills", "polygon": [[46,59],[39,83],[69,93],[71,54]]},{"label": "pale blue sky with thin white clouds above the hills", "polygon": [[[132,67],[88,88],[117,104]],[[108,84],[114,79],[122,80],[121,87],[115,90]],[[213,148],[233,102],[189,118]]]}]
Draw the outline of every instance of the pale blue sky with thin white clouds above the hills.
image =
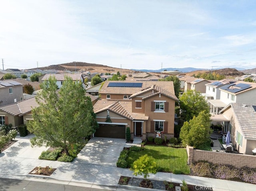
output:
[{"label": "pale blue sky with thin white clouds above the hills", "polygon": [[254,0],[2,0],[0,69],[256,67]]}]

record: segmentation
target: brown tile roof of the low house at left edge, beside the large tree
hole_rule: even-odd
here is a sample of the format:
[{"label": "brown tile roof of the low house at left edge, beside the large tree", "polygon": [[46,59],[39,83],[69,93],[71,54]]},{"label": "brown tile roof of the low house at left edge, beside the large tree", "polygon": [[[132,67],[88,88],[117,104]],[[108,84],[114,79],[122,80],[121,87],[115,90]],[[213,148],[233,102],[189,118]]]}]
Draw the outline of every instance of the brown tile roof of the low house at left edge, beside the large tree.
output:
[{"label": "brown tile roof of the low house at left edge, beside the large tree", "polygon": [[9,113],[14,116],[22,116],[23,114],[30,112],[32,108],[38,107],[36,97],[32,97],[17,103],[2,106],[0,110]]}]

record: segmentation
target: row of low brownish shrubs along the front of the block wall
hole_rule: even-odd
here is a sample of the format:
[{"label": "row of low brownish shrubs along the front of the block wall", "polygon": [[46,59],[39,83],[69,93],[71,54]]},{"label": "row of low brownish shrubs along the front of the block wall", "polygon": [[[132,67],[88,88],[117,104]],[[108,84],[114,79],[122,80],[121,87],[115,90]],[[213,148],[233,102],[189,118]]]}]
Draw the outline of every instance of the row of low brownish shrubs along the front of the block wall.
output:
[{"label": "row of low brownish shrubs along the front of the block wall", "polygon": [[225,164],[213,164],[207,161],[198,161],[191,166],[192,175],[226,179],[233,181],[243,181],[256,184],[256,169],[242,167],[240,169]]}]

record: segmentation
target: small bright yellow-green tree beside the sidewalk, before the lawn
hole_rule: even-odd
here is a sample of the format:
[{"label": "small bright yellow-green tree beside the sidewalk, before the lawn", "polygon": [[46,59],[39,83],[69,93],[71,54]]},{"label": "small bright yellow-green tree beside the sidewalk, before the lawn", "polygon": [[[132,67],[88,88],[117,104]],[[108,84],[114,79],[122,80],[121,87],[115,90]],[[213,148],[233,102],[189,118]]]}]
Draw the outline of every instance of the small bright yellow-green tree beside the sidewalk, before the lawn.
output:
[{"label": "small bright yellow-green tree beside the sidewalk, before the lawn", "polygon": [[156,161],[152,156],[143,155],[134,163],[132,163],[131,167],[132,171],[134,171],[134,175],[144,175],[144,178],[146,179],[147,184],[147,177],[149,177],[149,173],[156,174],[157,166]]}]

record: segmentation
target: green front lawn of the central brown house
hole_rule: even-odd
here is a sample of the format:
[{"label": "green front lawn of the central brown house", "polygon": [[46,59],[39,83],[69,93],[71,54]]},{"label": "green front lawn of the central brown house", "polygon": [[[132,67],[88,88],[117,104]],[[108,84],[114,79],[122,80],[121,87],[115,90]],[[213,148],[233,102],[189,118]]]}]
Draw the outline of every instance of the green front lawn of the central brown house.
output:
[{"label": "green front lawn of the central brown house", "polygon": [[190,173],[190,168],[187,165],[188,155],[186,148],[146,145],[144,150],[129,152],[127,158],[128,167],[131,167],[135,160],[145,154],[152,156],[156,160],[158,171],[172,172],[174,169],[179,169],[182,174]]}]

